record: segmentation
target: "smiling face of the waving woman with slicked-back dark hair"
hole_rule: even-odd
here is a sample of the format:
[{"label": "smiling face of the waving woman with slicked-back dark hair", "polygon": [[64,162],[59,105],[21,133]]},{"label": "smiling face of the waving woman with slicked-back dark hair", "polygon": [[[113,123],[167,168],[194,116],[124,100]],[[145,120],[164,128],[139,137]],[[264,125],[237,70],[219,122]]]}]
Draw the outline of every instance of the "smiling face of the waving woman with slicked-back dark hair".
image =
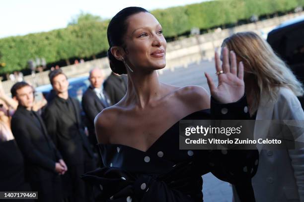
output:
[{"label": "smiling face of the waving woman with slicked-back dark hair", "polygon": [[164,68],[166,40],[156,18],[148,12],[140,12],[130,16],[126,23],[128,29],[124,36],[127,51],[125,58],[131,68]]}]

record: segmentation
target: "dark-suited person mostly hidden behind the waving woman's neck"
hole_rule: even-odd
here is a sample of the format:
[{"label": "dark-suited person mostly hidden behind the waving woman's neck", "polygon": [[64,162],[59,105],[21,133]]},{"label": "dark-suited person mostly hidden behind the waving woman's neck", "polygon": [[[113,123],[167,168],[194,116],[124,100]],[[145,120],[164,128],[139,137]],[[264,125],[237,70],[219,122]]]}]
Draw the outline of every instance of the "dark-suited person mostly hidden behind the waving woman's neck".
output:
[{"label": "dark-suited person mostly hidden behind the waving woman's neck", "polygon": [[107,92],[112,104],[119,102],[127,92],[128,78],[126,75],[119,75],[112,72],[105,80],[103,87]]}]

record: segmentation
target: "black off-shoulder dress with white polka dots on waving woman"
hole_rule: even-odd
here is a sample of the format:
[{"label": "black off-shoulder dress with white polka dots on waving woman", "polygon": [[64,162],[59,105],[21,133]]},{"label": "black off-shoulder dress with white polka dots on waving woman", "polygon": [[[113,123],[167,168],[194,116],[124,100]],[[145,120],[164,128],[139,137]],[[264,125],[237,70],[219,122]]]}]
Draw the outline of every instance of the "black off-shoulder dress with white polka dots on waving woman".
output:
[{"label": "black off-shoulder dress with white polka dots on waving woman", "polygon": [[[212,99],[211,110],[183,119],[249,119],[245,97],[229,104]],[[98,144],[104,167],[81,176],[100,202],[202,202],[202,175],[212,172],[235,185],[242,202],[254,202],[251,178],[257,150],[179,150],[179,122],[143,152],[117,144]]]}]

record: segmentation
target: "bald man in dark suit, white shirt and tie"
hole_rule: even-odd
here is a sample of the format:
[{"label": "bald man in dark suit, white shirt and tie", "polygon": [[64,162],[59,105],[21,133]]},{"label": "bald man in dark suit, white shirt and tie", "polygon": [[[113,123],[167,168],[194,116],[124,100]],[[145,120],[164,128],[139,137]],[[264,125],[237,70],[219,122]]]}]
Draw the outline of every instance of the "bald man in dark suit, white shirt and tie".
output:
[{"label": "bald man in dark suit, white shirt and tie", "polygon": [[84,92],[81,101],[82,109],[88,121],[89,141],[92,145],[97,144],[94,127],[95,116],[102,111],[102,109],[111,106],[109,97],[102,87],[103,80],[103,72],[99,68],[92,69],[89,75],[91,85]]}]

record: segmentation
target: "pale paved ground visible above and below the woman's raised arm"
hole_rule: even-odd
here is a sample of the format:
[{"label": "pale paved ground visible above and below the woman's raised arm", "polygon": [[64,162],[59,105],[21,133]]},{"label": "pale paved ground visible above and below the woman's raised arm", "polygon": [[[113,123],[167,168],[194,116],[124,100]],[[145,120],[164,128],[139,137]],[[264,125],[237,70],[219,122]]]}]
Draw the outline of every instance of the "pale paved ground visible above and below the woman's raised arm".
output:
[{"label": "pale paved ground visible above and below the woman's raised arm", "polygon": [[[217,83],[214,61],[201,61],[200,64],[193,63],[187,68],[177,67],[174,71],[164,70],[163,74],[159,75],[159,80],[176,86],[199,85],[210,92],[204,72],[209,73]],[[211,173],[204,175],[203,181],[204,202],[232,201],[231,186],[227,182],[217,179]]]}]

